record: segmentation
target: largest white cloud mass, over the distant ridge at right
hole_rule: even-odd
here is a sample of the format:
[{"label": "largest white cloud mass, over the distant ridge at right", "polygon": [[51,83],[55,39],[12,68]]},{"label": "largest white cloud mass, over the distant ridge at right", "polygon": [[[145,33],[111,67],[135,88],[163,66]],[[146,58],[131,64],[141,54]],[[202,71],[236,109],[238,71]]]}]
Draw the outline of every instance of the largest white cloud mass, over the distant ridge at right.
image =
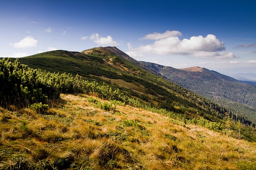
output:
[{"label": "largest white cloud mass, over the distant ridge at right", "polygon": [[169,30],[162,34],[148,34],[142,39],[155,40],[153,44],[141,45],[137,48],[127,44],[129,51],[126,53],[131,54],[132,57],[135,57],[134,54],[153,53],[157,55],[191,55],[196,58],[239,58],[231,52],[221,52],[225,50],[224,42],[219,41],[215,35],[192,36],[190,39],[182,40],[178,37],[180,35],[182,34],[178,31]]}]

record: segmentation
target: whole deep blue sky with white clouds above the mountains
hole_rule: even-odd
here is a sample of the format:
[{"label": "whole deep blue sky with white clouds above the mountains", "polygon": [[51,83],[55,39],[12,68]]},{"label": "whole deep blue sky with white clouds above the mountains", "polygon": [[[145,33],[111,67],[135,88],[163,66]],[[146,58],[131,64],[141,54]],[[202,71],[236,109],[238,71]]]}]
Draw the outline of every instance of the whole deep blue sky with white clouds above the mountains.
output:
[{"label": "whole deep blue sky with white clouds above the mountains", "polygon": [[256,70],[255,0],[0,0],[0,23],[0,57],[116,46],[175,68]]}]

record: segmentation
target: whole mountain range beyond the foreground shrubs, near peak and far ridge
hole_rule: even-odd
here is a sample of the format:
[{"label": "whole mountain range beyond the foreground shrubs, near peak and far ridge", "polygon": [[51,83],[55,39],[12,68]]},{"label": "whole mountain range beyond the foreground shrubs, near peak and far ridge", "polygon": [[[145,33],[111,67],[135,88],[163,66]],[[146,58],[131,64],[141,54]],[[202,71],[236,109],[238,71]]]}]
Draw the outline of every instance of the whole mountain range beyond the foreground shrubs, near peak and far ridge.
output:
[{"label": "whole mountain range beyond the foreground shrubs, near peak and far ridge", "polygon": [[206,68],[176,69],[140,62],[116,47],[49,51],[19,61],[34,69],[79,74],[91,81],[105,82],[144,103],[176,113],[217,121],[228,112],[243,123],[256,123],[256,86]]}]

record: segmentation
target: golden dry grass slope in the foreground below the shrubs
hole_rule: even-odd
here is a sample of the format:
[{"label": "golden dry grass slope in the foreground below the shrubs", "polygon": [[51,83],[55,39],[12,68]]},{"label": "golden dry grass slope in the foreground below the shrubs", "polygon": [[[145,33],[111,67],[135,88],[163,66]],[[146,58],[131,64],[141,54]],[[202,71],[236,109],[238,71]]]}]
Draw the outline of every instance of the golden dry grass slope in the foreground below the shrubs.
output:
[{"label": "golden dry grass slope in the foreground below the shrubs", "polygon": [[130,106],[113,114],[88,97],[61,95],[44,114],[1,108],[0,169],[256,168],[255,142]]}]

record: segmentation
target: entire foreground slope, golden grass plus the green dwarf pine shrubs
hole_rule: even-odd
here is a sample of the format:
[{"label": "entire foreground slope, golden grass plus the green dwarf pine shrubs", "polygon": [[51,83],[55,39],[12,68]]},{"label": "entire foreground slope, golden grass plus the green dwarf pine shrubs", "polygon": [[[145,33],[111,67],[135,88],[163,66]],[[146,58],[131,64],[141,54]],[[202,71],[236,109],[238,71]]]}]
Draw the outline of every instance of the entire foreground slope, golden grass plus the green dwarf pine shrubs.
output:
[{"label": "entire foreground slope, golden grass plus the green dwarf pine shrubs", "polygon": [[0,169],[256,168],[255,128],[221,117],[218,105],[180,86],[165,87],[174,101],[164,109],[160,100],[156,107],[17,60],[0,60],[0,82]]}]

